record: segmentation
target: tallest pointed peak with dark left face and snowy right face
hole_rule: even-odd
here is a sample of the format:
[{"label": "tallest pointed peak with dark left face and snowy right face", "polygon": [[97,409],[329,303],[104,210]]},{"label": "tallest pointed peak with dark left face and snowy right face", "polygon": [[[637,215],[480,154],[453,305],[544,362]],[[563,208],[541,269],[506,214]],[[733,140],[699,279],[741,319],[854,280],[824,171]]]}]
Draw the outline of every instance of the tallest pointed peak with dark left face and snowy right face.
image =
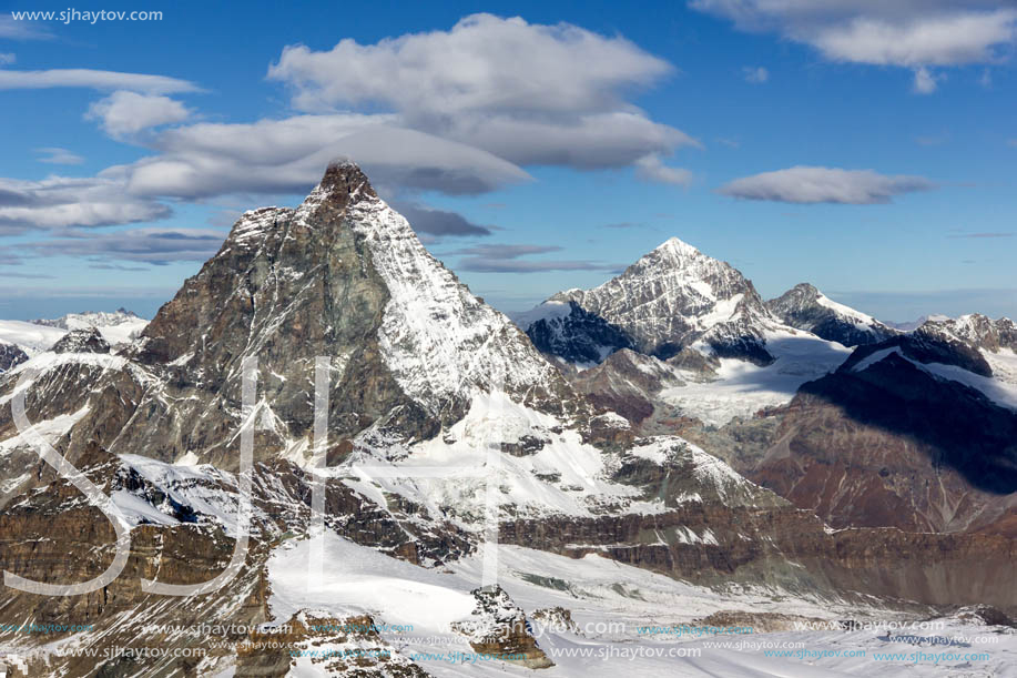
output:
[{"label": "tallest pointed peak with dark left face and snowy right face", "polygon": [[[159,442],[160,458],[192,452],[228,466],[241,361],[257,355],[266,422],[258,454],[295,448],[313,422],[315,357],[329,356],[335,445],[372,429],[434,437],[472,395],[504,381],[538,411],[577,414],[561,375],[504,315],[480,302],[382,202],[355,165],[334,165],[296,210],[247,212],[126,353],[157,387],[141,391],[113,452]],[[110,396],[114,397],[114,396]],[[221,416],[201,416],[213,411]],[[82,426],[105,427],[93,411]],[[119,413],[115,416],[121,416]],[[186,424],[185,424],[186,422]],[[349,443],[346,443],[348,446]],[[348,447],[347,447],[348,449]]]}]

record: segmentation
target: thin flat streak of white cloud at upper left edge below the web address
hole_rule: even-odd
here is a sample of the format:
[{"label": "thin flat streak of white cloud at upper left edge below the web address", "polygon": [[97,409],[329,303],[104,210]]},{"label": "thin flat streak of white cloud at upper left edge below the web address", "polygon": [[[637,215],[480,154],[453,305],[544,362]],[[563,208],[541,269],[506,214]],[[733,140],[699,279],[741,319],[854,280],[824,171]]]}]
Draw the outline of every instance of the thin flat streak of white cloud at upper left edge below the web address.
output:
[{"label": "thin flat streak of white cloud at upper left edge below the web address", "polygon": [[49,88],[87,88],[93,90],[129,90],[148,94],[171,94],[174,92],[197,92],[193,82],[149,75],[145,73],[121,73],[92,69],[51,69],[48,71],[0,70],[0,90],[38,90]]}]

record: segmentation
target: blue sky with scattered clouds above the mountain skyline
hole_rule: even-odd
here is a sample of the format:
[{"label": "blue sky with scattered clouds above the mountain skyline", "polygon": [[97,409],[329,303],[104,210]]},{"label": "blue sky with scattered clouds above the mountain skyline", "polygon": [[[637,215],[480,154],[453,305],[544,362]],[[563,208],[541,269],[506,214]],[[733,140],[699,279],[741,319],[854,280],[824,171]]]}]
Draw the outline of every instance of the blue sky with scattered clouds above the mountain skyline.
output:
[{"label": "blue sky with scattered clouds above the mountain skyline", "polygon": [[68,9],[0,4],[0,317],[151,316],[336,154],[502,310],[678,236],[767,297],[1017,316],[1017,2],[11,14]]}]

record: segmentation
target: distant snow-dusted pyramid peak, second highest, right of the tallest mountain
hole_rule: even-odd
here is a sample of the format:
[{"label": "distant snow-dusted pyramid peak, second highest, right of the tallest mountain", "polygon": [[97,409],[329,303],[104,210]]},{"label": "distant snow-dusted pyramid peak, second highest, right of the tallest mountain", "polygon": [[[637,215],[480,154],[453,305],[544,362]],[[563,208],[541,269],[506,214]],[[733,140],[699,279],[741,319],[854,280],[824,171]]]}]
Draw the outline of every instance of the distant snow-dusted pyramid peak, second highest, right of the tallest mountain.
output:
[{"label": "distant snow-dusted pyramid peak, second highest, right of the tallest mountain", "polygon": [[[565,357],[571,353],[568,346],[583,343],[603,345],[606,353],[616,346],[632,347],[665,360],[700,344],[718,356],[760,364],[774,360],[766,348],[766,332],[780,323],[752,282],[677,237],[599,287],[559,292],[548,301],[576,303],[623,332],[630,342],[623,346],[617,341],[601,344],[596,335],[573,338],[563,343],[566,347],[549,346],[552,355]],[[559,333],[568,337],[582,335],[583,324],[589,325],[586,316],[556,320]],[[536,318],[525,328],[531,338],[545,332]]]}]

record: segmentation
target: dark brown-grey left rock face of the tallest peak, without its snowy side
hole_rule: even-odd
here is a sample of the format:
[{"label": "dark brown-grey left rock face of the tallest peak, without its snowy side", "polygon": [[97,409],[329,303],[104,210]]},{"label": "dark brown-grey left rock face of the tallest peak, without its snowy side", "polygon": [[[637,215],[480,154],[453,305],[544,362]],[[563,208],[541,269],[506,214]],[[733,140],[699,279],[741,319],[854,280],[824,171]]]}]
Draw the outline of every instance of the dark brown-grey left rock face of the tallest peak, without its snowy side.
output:
[{"label": "dark brown-grey left rock face of the tallest peak, without its snowy side", "polygon": [[[159,311],[135,357],[165,365],[172,388],[199,399],[193,409],[140,403],[159,414],[134,419],[121,448],[162,439],[167,448],[160,456],[172,459],[189,449],[221,446],[222,416],[201,419],[199,414],[240,407],[240,363],[253,354],[263,375],[260,388],[286,423],[283,436],[299,437],[311,428],[307,378],[317,355],[345,356],[334,386],[343,397],[330,401],[337,434],[354,435],[393,411],[401,412],[400,423],[418,435],[436,429],[380,360],[377,330],[389,295],[362,239],[343,223],[350,194],[369,198],[374,191],[358,170],[333,169],[323,186],[329,189],[326,199],[303,219],[281,208],[244,214],[220,252]],[[299,373],[303,378],[289,378]],[[195,421],[197,427],[174,433]],[[224,449],[210,453],[210,459],[225,462]]]}]

